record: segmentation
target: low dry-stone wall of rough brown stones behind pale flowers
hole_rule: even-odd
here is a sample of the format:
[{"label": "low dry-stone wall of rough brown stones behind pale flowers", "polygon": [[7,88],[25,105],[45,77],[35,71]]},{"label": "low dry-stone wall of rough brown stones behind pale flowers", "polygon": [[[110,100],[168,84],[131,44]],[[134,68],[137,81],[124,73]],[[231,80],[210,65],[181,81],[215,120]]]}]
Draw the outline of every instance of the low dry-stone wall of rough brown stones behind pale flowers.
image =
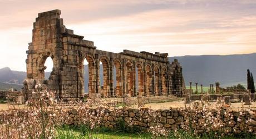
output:
[{"label": "low dry-stone wall of rough brown stones behind pale flowers", "polygon": [[[100,109],[91,109],[90,113],[97,115]],[[126,125],[140,127],[142,130],[147,130],[151,126],[165,127],[169,130],[186,129],[186,125],[190,125],[195,133],[209,132],[206,127],[210,127],[210,132],[220,131],[224,133],[240,133],[253,132],[256,133],[256,115],[255,111],[211,111],[209,119],[205,112],[196,110],[183,110],[179,108],[171,108],[170,110],[150,110],[149,108],[129,108],[121,107],[119,109],[105,110],[105,115],[101,118],[100,123],[109,128],[115,128],[119,123],[118,120],[124,120]],[[218,115],[218,116],[217,116]],[[205,118],[205,116],[207,118]],[[188,120],[189,117],[189,121]],[[222,118],[220,118],[222,117]],[[80,111],[72,109],[69,112],[67,124],[79,125],[82,117]],[[218,120],[220,121],[218,121]],[[218,124],[220,123],[220,124]],[[210,126],[208,125],[210,124]],[[220,126],[221,125],[221,126]]]}]

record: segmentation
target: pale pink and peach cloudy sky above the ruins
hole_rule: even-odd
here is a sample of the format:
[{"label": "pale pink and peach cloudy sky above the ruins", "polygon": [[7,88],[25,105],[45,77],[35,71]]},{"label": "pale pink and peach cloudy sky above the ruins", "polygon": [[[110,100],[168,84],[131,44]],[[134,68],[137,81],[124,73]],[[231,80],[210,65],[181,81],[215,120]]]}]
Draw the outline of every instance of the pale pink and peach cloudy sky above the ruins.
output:
[{"label": "pale pink and peach cloudy sky above the ruins", "polygon": [[52,9],[61,10],[66,28],[104,51],[256,52],[254,0],[0,0],[0,68],[26,71],[33,22]]}]

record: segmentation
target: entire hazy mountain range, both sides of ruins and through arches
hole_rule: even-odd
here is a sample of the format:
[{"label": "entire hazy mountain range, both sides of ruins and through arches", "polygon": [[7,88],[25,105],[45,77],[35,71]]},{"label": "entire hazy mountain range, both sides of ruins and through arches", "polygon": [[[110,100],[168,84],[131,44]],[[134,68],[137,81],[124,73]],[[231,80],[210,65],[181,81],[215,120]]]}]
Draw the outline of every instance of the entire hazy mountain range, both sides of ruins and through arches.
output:
[{"label": "entire hazy mountain range, both sides of ruins and through arches", "polygon": [[[174,61],[175,58],[178,59],[183,67],[183,75],[186,85],[189,85],[189,82],[191,81],[193,83],[198,82],[199,85],[203,84],[204,86],[220,82],[220,85],[223,87],[237,85],[238,83],[242,83],[246,87],[248,68],[254,73],[254,78],[256,78],[256,53],[227,56],[203,55],[170,57],[169,61]],[[84,69],[85,92],[88,92],[88,66],[85,65]],[[45,73],[46,79],[50,76],[50,73],[51,72]],[[26,78],[26,72],[12,71],[8,67],[2,68],[0,69],[0,90],[1,88],[8,87],[19,88],[21,87],[24,78]],[[102,64],[100,65],[100,80],[102,85]]]}]

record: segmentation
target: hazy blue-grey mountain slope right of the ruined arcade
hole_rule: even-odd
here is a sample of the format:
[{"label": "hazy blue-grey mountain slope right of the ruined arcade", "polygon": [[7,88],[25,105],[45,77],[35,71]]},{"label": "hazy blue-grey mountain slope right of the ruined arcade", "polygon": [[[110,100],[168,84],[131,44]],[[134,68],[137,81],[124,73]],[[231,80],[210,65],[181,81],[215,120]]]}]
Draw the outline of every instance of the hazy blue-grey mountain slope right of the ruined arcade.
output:
[{"label": "hazy blue-grey mountain slope right of the ruined arcade", "polygon": [[183,67],[186,85],[191,81],[204,86],[220,82],[220,86],[224,87],[238,83],[247,87],[247,69],[256,78],[256,53],[170,57],[169,60],[173,61],[175,58]]}]

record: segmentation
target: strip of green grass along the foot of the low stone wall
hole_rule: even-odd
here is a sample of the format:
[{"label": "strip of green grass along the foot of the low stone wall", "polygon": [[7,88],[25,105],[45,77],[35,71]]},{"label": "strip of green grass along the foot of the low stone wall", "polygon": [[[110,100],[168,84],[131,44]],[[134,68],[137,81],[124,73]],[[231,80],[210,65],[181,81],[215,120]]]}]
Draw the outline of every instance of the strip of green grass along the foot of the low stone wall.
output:
[{"label": "strip of green grass along the foot of the low stone wall", "polygon": [[[126,130],[122,130],[122,127],[117,128],[115,130],[110,130],[108,128],[98,128],[96,130],[90,130],[85,125],[81,126],[62,126],[57,127],[57,139],[66,139],[66,138],[152,138],[152,135],[147,133],[139,133],[139,132],[125,132]],[[157,138],[186,138],[186,139],[197,139],[197,138],[219,138],[215,137],[214,133],[207,133],[201,136],[193,136],[193,133],[186,132],[183,130],[179,130],[178,132],[171,132],[168,137],[157,137]],[[238,139],[238,138],[248,138],[253,139],[256,138],[255,135],[249,133],[240,133],[239,135],[234,136],[224,136],[220,137],[220,139]]]}]

